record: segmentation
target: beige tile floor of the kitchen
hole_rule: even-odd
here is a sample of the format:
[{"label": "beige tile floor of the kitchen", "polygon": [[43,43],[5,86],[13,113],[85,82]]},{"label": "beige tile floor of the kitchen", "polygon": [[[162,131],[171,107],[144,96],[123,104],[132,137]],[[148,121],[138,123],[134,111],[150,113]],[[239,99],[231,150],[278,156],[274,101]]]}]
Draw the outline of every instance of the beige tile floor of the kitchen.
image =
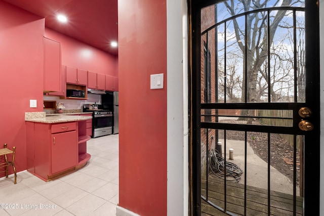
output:
[{"label": "beige tile floor of the kitchen", "polygon": [[0,215],[115,215],[118,203],[118,135],[91,139],[82,169],[44,182],[27,171],[0,178]]}]

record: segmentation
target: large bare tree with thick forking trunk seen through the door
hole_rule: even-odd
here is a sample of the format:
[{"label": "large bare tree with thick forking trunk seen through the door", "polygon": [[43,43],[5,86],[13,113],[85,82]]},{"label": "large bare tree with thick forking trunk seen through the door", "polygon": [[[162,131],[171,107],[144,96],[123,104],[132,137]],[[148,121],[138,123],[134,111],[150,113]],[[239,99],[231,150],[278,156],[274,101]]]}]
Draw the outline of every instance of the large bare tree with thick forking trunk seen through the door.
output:
[{"label": "large bare tree with thick forking trunk seen through the door", "polygon": [[[243,5],[244,12],[248,12],[264,8],[267,4],[269,4],[270,1],[247,0],[239,2]],[[282,0],[280,5],[279,3],[280,1],[276,1],[274,2],[273,6],[290,6],[292,4],[292,0]],[[237,14],[236,10],[240,10],[237,8],[237,3],[234,3],[234,0],[225,1],[224,5],[231,16]],[[269,49],[268,44],[272,44],[276,29],[282,18],[284,18],[285,14],[286,10],[278,10],[276,13],[272,14],[268,14],[267,11],[250,13],[246,16],[244,26],[239,24],[237,18],[232,20],[238,47],[242,54],[247,54],[245,55],[246,60],[244,61],[243,65],[244,70],[247,69],[247,75],[243,76],[241,93],[242,102],[255,102],[258,98],[258,74],[261,66],[267,60]],[[269,15],[271,16],[271,24],[267,23],[267,16]],[[247,31],[245,31],[245,29],[247,29]],[[247,110],[245,111],[246,113],[242,112],[242,114],[249,115]],[[253,118],[249,118],[248,123],[252,123],[252,120]]]}]

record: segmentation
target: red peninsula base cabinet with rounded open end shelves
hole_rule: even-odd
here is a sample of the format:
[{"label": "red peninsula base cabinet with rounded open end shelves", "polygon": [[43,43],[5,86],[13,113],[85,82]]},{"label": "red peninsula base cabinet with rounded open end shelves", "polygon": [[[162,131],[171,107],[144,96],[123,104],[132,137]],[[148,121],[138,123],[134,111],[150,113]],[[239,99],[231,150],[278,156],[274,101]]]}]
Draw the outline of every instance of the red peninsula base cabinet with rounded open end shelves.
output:
[{"label": "red peninsula base cabinet with rounded open end shelves", "polygon": [[87,120],[26,122],[27,170],[44,181],[83,167],[87,153]]}]

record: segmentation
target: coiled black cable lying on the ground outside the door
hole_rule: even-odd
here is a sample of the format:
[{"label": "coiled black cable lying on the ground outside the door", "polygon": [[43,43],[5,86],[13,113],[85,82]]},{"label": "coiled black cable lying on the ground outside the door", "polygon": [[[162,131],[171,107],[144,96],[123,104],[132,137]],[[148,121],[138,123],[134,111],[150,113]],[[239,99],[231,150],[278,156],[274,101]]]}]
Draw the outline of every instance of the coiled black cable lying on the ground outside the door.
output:
[{"label": "coiled black cable lying on the ground outside the door", "polygon": [[243,170],[239,166],[228,161],[226,161],[225,170],[225,158],[216,149],[211,150],[209,167],[215,176],[220,179],[224,179],[226,175],[226,181],[238,182],[243,174]]}]

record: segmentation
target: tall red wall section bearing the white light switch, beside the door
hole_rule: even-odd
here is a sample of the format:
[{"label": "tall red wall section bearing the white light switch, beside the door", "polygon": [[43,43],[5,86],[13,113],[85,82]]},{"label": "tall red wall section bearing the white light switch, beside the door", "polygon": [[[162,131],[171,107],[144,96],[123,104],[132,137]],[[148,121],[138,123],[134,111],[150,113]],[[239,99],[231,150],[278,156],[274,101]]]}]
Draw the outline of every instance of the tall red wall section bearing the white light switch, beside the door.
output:
[{"label": "tall red wall section bearing the white light switch, beside the door", "polygon": [[140,215],[167,215],[166,16],[166,0],[118,1],[118,205]]}]

